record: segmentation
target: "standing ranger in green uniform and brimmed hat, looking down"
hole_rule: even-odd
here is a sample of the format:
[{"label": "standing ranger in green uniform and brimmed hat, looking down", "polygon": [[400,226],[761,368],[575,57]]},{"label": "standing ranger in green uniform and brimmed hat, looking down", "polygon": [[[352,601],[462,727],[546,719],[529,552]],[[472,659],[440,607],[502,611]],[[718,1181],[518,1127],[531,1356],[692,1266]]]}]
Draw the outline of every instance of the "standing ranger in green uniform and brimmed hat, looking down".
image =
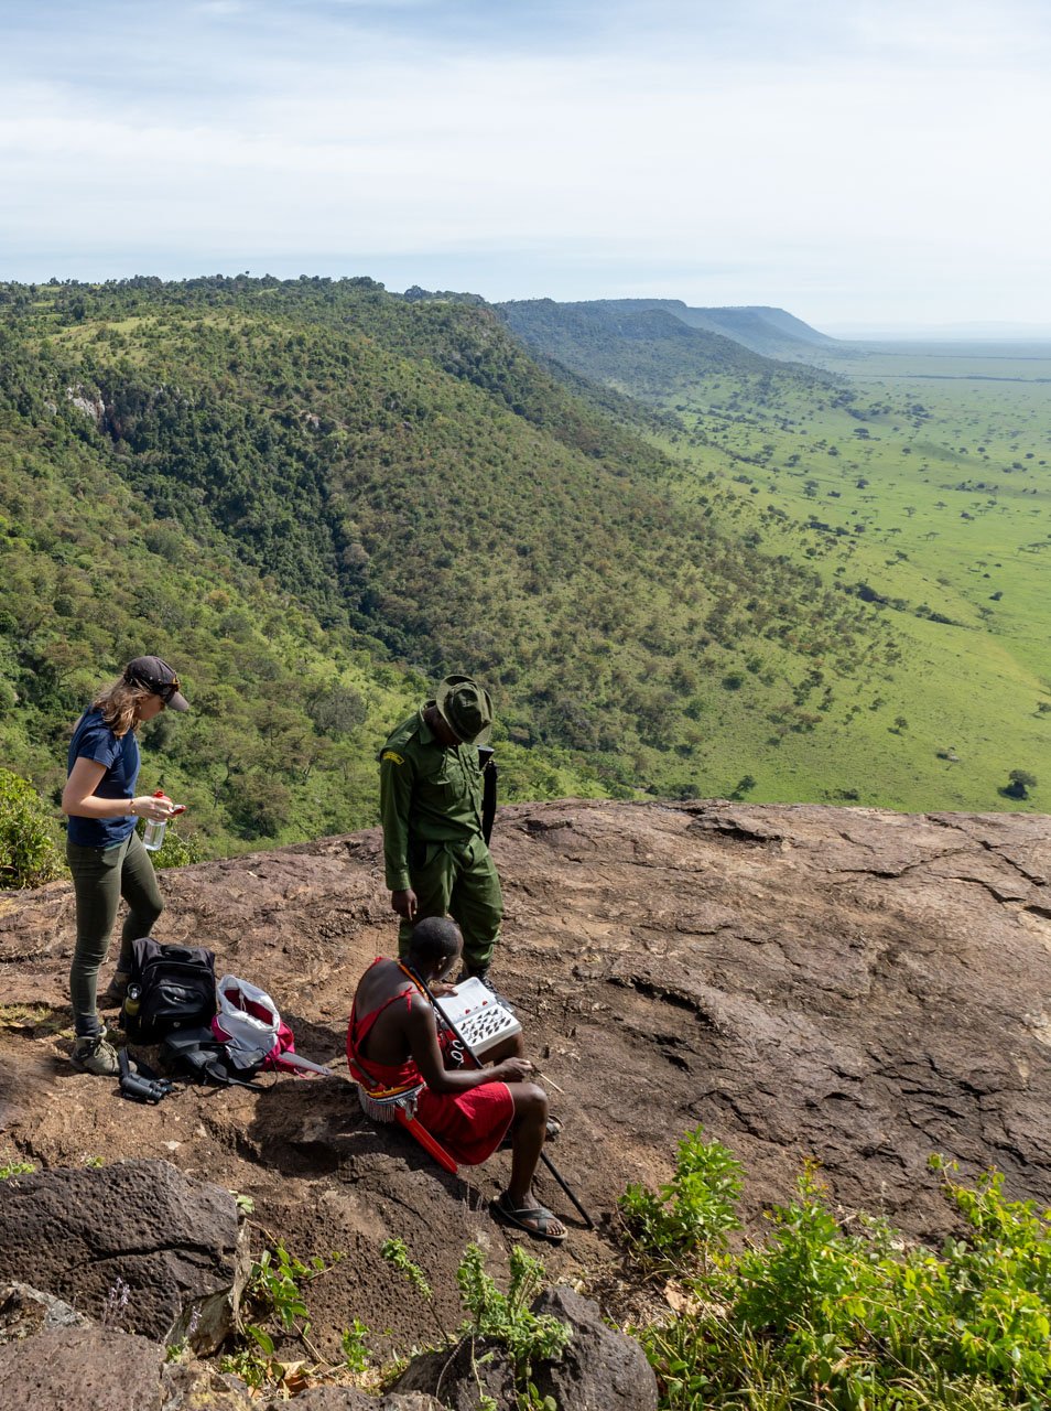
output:
[{"label": "standing ranger in green uniform and brimmed hat, looking down", "polygon": [[379,813],[391,906],[405,957],[415,921],[453,916],[464,969],[485,979],[504,899],[482,834],[478,745],[490,738],[492,701],[470,676],[447,676],[379,751]]}]

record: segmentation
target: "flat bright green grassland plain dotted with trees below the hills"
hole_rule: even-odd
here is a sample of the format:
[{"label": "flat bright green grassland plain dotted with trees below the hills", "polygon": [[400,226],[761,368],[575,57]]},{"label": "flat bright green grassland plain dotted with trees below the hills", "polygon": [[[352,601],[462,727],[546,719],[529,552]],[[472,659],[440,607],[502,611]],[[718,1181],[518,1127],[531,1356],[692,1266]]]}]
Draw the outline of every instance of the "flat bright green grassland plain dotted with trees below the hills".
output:
[{"label": "flat bright green grassland plain dotted with trees below the hills", "polygon": [[[1051,346],[820,357],[837,374],[824,392],[782,378],[743,396],[725,377],[664,399],[684,426],[664,440],[683,459],[681,494],[873,602],[897,642],[863,680],[815,667],[813,735],[798,706],[767,710],[752,797],[1045,807]],[[721,720],[731,735],[735,714]],[[1030,797],[1007,792],[1013,769],[1038,779]]]}]

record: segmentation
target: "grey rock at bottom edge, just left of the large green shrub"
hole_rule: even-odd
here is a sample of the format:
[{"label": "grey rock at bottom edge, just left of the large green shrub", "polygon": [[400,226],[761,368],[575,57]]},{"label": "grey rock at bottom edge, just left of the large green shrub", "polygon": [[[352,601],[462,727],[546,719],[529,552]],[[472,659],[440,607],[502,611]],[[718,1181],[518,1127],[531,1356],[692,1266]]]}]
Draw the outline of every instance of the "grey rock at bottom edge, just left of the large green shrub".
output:
[{"label": "grey rock at bottom edge, just left of the large green shrub", "polygon": [[560,1359],[533,1366],[542,1397],[559,1411],[656,1411],[657,1379],[633,1338],[607,1328],[598,1307],[571,1288],[546,1288],[535,1314],[553,1314],[573,1328]]}]

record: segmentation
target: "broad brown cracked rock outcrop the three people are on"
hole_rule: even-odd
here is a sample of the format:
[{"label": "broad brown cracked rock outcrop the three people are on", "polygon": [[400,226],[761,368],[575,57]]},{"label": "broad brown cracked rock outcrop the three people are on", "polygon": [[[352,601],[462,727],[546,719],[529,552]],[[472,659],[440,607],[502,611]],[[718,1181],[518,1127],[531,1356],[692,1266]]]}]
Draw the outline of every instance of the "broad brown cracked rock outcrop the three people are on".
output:
[{"label": "broad brown cracked rock outcrop the three people are on", "polygon": [[[791,1194],[808,1157],[846,1211],[928,1237],[949,1223],[932,1151],[1051,1201],[1051,818],[521,804],[501,810],[494,851],[506,890],[494,982],[566,1123],[553,1156],[600,1225],[583,1232],[543,1184],[573,1226],[547,1253],[552,1274],[612,1261],[602,1218],[628,1181],[666,1178],[698,1122],[745,1163],[752,1218]],[[221,972],[269,989],[302,1053],[339,1058],[358,975],[394,945],[377,832],[162,886],[161,940],[213,945]],[[506,1154],[457,1181],[365,1122],[343,1082],[121,1102],[63,1061],[72,940],[65,883],[0,900],[4,1150],[45,1164],[159,1156],[251,1194],[300,1257],[350,1256],[316,1285],[319,1336],[353,1316],[395,1340],[419,1326],[377,1263],[388,1235],[449,1290],[439,1309],[456,1321],[466,1239],[497,1260],[505,1247],[484,1205]]]}]

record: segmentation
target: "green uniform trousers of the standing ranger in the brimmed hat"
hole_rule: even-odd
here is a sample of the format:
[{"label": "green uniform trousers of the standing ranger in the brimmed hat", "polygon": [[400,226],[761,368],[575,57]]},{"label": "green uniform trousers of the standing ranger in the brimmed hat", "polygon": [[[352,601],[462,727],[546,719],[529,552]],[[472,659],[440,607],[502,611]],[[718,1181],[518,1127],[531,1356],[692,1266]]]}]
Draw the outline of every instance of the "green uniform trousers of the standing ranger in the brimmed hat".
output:
[{"label": "green uniform trousers of the standing ranger in the brimmed hat", "polygon": [[[426,916],[451,916],[464,938],[464,964],[478,971],[492,959],[504,917],[497,865],[485,840],[468,842],[429,842],[412,849],[409,880],[416,893],[416,920]],[[398,954],[405,958],[412,926],[398,927]]]}]

